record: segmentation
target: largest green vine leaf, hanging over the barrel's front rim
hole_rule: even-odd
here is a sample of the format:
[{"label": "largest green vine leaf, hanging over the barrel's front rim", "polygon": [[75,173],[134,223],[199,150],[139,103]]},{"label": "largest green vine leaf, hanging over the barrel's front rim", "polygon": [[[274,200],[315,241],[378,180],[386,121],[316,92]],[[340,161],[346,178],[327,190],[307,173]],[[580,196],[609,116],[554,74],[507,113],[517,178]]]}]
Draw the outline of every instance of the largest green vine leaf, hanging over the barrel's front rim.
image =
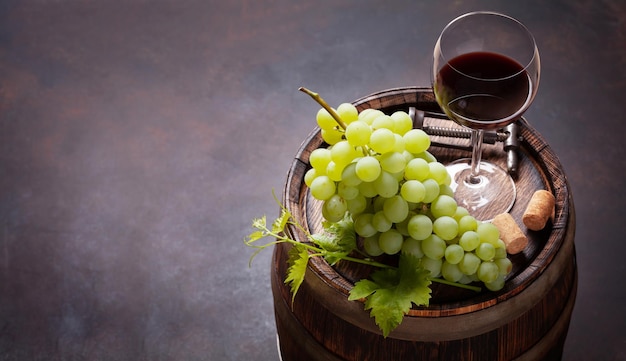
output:
[{"label": "largest green vine leaf, hanging over the barrel's front rim", "polygon": [[419,258],[402,253],[398,268],[381,269],[373,272],[371,279],[358,281],[348,299],[365,298],[365,310],[370,310],[370,316],[387,337],[402,322],[412,304],[428,305],[429,275],[421,267]]}]

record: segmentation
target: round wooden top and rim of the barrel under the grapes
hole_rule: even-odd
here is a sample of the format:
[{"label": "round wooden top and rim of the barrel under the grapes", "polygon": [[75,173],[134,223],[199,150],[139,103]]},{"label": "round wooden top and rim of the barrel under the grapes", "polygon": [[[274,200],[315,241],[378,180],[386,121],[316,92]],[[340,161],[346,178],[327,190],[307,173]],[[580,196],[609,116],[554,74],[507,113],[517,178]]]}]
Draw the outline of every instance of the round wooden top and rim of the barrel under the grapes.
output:
[{"label": "round wooden top and rim of the barrel under the grapes", "polygon": [[[396,110],[408,112],[410,107],[415,107],[424,112],[425,122],[435,125],[442,122],[441,110],[432,90],[427,87],[384,90],[357,99],[353,104],[359,111],[374,108],[386,114]],[[444,122],[446,126],[454,126],[450,121]],[[410,315],[439,317],[447,315],[448,312],[469,313],[508,300],[529,287],[545,271],[567,239],[573,242],[574,209],[566,176],[558,157],[531,123],[532,120],[524,118],[518,121],[520,147],[518,176],[515,181],[517,198],[509,212],[528,237],[529,243],[522,252],[509,255],[513,270],[507,277],[504,288],[498,292],[485,290],[476,294],[456,287],[433,284],[431,304],[427,307],[415,307]],[[465,142],[469,146],[469,140],[435,136],[431,139],[434,145],[429,151],[444,164],[471,155],[469,149],[450,148],[442,144],[464,145]],[[304,174],[309,169],[310,153],[320,146],[326,144],[321,138],[319,128],[316,128],[303,141],[296,154],[283,195],[285,206],[292,212],[294,219],[307,227],[311,233],[322,230],[321,203],[310,196],[308,187],[304,184]],[[488,159],[506,169],[506,153],[501,143],[485,144],[483,159]],[[555,196],[555,212],[543,230],[530,231],[522,223],[522,215],[533,193],[539,189],[547,190]],[[290,229],[290,232],[297,240],[305,239],[302,232],[295,227]],[[340,263],[333,268],[319,257],[311,259],[309,267],[331,287],[345,293],[346,297],[354,282],[365,277],[368,272],[367,269],[348,262]]]}]

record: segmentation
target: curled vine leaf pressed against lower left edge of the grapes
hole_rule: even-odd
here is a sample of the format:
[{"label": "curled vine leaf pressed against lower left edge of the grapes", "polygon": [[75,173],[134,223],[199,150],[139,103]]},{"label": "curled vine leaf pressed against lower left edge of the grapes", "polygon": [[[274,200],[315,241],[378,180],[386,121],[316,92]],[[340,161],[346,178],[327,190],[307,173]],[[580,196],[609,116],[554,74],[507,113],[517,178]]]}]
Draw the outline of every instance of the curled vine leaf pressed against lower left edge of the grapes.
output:
[{"label": "curled vine leaf pressed against lower left edge of the grapes", "polygon": [[354,223],[349,215],[338,222],[323,222],[324,232],[311,235],[311,240],[322,248],[324,259],[331,266],[357,248]]}]

